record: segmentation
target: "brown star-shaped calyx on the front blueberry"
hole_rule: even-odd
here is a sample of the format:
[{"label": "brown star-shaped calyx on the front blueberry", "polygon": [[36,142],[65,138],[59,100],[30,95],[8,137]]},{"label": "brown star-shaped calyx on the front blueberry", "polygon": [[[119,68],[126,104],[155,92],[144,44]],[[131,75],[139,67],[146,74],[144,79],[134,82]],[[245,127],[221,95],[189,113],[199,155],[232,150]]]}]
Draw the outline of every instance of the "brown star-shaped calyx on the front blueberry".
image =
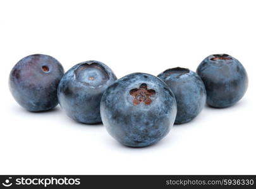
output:
[{"label": "brown star-shaped calyx on the front blueberry", "polygon": [[152,103],[150,96],[155,95],[155,90],[147,89],[147,84],[142,83],[140,88],[131,89],[130,95],[134,97],[133,105],[139,105],[142,102],[145,105],[150,105]]}]

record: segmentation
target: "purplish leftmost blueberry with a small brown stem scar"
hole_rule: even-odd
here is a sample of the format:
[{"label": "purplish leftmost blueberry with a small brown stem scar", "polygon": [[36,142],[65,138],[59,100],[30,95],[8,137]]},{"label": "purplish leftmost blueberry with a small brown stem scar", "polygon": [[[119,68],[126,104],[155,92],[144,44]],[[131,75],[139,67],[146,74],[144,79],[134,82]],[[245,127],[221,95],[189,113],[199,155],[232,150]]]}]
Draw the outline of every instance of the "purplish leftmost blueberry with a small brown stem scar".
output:
[{"label": "purplish leftmost blueberry with a small brown stem scar", "polygon": [[9,89],[17,103],[30,112],[51,110],[58,105],[57,88],[63,67],[49,55],[21,59],[9,74]]}]

